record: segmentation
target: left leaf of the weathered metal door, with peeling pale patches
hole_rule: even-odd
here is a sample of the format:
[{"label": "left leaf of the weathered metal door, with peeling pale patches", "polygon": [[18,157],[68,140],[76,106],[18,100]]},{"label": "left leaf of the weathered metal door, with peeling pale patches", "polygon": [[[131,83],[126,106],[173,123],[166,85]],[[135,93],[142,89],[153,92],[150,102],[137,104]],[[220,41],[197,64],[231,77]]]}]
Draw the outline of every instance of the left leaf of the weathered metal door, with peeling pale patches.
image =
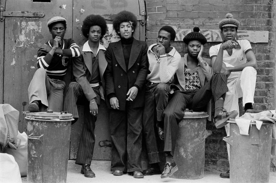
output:
[{"label": "left leaf of the weathered metal door, with peeling pale patches", "polygon": [[3,79],[3,83],[0,82],[3,87],[0,87],[0,102],[11,104],[20,112],[18,129],[27,132],[21,111],[28,106],[28,86],[37,70],[37,50],[51,39],[47,21],[57,15],[65,17],[68,20],[65,38],[71,38],[73,1],[0,2],[0,78]]}]

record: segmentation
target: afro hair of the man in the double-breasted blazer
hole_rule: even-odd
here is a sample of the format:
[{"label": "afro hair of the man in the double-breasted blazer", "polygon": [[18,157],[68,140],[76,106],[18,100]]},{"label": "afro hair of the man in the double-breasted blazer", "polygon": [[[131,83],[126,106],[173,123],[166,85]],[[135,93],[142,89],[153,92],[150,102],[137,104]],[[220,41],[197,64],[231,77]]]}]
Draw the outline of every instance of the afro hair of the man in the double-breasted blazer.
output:
[{"label": "afro hair of the man in the double-breasted blazer", "polygon": [[137,18],[136,16],[129,11],[120,11],[117,15],[115,15],[113,19],[113,28],[118,33],[120,31],[120,24],[122,22],[132,22],[132,30],[134,31],[137,26]]}]

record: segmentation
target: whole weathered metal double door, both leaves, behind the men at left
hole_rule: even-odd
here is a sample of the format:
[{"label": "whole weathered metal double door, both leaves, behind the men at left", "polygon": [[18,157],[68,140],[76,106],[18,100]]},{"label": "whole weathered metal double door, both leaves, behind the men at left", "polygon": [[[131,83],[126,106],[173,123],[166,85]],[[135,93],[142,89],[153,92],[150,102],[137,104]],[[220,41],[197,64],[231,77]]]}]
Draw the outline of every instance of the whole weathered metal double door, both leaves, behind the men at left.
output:
[{"label": "whole weathered metal double door, both leaves, behind the men at left", "polygon": [[[51,39],[47,28],[47,21],[51,17],[65,17],[65,38],[73,38],[81,45],[86,41],[81,34],[84,18],[89,14],[104,16],[109,24],[109,33],[103,38],[104,46],[107,47],[109,42],[119,39],[116,33],[112,32],[112,18],[116,13],[127,10],[137,15],[139,22],[134,37],[145,40],[144,0],[0,0],[0,8],[0,103],[11,104],[20,111],[20,132],[27,132],[21,112],[28,106],[28,86],[37,70],[37,50],[41,44]],[[70,74],[68,69],[65,79],[67,84]],[[94,159],[111,158],[109,114],[104,102],[102,104],[96,122]],[[70,159],[76,158],[78,149],[83,125],[81,108],[83,106],[79,106],[80,118],[72,126]]]}]

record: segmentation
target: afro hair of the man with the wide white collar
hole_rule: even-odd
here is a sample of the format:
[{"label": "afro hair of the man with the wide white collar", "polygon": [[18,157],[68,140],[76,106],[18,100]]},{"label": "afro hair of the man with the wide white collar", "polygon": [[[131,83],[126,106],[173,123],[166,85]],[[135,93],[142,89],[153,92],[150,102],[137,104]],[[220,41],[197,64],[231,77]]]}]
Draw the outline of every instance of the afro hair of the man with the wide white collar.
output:
[{"label": "afro hair of the man with the wide white collar", "polygon": [[83,20],[83,26],[81,28],[83,36],[88,38],[88,34],[92,26],[99,26],[101,28],[101,38],[103,38],[107,31],[106,20],[101,17],[101,15],[88,15]]}]

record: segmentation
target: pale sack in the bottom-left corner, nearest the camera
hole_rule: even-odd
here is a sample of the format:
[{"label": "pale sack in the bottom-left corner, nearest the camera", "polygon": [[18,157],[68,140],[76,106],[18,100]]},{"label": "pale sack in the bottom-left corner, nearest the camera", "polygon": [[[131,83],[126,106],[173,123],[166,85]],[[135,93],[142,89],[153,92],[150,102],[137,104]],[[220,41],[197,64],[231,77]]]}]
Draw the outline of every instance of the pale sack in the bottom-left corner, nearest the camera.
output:
[{"label": "pale sack in the bottom-left corner, nearest the camera", "polygon": [[12,155],[0,153],[0,182],[22,183],[18,164]]}]

